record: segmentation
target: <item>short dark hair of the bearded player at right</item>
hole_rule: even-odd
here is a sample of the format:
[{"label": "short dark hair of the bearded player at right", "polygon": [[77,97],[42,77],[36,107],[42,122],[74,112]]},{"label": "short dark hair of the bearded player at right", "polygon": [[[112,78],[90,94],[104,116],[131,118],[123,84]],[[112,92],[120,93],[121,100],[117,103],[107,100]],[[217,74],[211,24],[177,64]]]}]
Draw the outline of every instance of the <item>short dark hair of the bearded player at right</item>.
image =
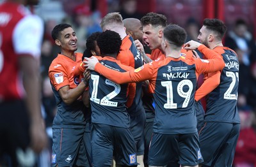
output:
[{"label": "short dark hair of the bearded player at right", "polygon": [[214,31],[220,40],[223,38],[224,34],[227,31],[226,25],[217,18],[205,18],[203,25],[206,26],[206,29]]}]

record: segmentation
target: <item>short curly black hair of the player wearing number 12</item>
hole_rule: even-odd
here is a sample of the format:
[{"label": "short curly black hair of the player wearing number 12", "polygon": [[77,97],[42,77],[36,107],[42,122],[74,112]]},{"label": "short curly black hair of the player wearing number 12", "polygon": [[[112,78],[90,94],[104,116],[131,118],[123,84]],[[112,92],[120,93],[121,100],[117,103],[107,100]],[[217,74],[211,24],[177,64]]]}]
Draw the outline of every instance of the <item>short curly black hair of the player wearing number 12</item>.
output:
[{"label": "short curly black hair of the player wearing number 12", "polygon": [[100,48],[100,54],[118,54],[122,45],[121,37],[115,31],[104,31],[97,38],[97,45]]}]

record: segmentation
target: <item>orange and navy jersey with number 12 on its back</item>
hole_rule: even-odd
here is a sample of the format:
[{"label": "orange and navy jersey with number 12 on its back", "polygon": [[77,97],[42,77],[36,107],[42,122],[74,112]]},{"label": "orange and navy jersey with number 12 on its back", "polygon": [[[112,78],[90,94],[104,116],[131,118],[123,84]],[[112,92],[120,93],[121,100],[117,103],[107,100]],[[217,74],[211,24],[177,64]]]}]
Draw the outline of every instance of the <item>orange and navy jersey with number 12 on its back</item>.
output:
[{"label": "orange and navy jersey with number 12 on its back", "polygon": [[[117,61],[113,57],[103,57],[100,63],[109,69],[114,69],[120,72],[134,69],[121,64],[120,61]],[[130,98],[130,101],[132,102],[135,95],[135,89],[135,83],[118,84],[95,71],[91,71],[89,90],[92,122],[129,128],[130,119],[126,105],[127,99]]]}]

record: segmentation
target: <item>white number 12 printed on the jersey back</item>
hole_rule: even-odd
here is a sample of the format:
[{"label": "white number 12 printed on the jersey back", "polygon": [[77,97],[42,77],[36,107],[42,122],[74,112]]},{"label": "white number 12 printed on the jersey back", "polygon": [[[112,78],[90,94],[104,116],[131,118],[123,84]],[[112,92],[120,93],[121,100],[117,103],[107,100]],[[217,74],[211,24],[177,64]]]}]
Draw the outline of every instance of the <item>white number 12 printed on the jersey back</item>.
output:
[{"label": "white number 12 printed on the jersey back", "polygon": [[115,88],[114,91],[110,92],[106,96],[104,96],[102,99],[97,98],[97,93],[98,93],[98,85],[99,85],[99,75],[91,75],[91,78],[93,80],[93,91],[92,91],[92,96],[90,98],[91,101],[94,101],[95,103],[99,105],[104,105],[104,106],[117,106],[118,102],[115,101],[110,101],[111,99],[115,98],[120,91],[121,91],[121,86],[115,82],[112,82],[111,80],[106,79],[106,84],[111,85]]}]

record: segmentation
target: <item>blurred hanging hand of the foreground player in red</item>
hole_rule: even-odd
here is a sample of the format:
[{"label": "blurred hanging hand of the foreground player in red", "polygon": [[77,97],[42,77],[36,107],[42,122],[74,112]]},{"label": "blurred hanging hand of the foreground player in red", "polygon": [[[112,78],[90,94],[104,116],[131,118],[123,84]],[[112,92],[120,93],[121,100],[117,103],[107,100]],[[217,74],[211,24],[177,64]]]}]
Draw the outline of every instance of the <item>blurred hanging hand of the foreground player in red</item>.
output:
[{"label": "blurred hanging hand of the foreground player in red", "polygon": [[48,145],[48,138],[45,132],[44,120],[32,120],[30,125],[31,148],[36,153],[40,153]]}]

